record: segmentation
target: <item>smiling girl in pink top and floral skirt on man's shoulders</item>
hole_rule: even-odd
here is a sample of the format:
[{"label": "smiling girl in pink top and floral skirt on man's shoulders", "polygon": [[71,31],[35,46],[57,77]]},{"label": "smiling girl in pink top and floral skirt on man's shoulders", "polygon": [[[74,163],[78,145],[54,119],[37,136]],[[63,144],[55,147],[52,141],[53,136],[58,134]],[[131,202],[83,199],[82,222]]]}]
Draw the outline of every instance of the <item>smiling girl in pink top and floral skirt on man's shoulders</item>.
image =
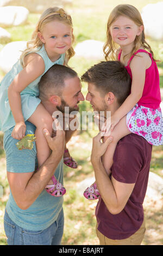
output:
[{"label": "smiling girl in pink top and floral skirt on man's shoulders", "polygon": [[[103,156],[105,170],[110,174],[117,142],[129,133],[135,133],[152,145],[162,145],[163,120],[159,72],[151,47],[145,40],[139,11],[129,4],[117,5],[109,16],[106,35],[105,59],[120,60],[132,80],[129,96],[110,119],[114,140]],[[99,198],[96,183],[86,189],[84,196]]]}]

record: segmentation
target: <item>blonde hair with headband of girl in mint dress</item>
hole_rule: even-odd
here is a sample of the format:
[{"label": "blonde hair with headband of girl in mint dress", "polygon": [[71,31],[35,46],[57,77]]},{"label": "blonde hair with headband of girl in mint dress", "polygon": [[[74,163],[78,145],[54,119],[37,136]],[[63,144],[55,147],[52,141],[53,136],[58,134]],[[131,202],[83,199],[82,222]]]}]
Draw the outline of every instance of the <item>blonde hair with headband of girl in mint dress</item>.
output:
[{"label": "blonde hair with headband of girl in mint dress", "polygon": [[[72,20],[71,16],[68,15],[64,9],[58,8],[58,7],[53,7],[53,8],[48,8],[43,12],[43,14],[40,16],[39,21],[37,22],[35,31],[32,34],[32,39],[27,42],[27,48],[24,50],[21,54],[20,60],[21,60],[21,65],[24,66],[24,57],[30,53],[30,52],[36,52],[40,50],[40,47],[42,47],[43,42],[40,40],[39,36],[37,35],[38,32],[42,32],[43,26],[45,26],[48,22],[51,21],[60,21],[66,23],[68,26],[72,26]],[[74,35],[72,33],[72,44],[74,42]],[[68,60],[74,56],[74,50],[73,47],[71,46],[65,54],[65,64],[68,66]]]}]

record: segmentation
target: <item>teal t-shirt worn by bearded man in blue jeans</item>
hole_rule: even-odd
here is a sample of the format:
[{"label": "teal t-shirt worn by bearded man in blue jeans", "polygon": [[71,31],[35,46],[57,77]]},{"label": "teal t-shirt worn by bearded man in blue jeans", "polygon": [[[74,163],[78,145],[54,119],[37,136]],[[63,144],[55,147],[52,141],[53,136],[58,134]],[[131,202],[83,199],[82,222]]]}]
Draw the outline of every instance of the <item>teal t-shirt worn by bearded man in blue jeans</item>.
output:
[{"label": "teal t-shirt worn by bearded man in blue jeans", "polygon": [[[35,126],[26,122],[26,134],[34,134]],[[17,139],[11,137],[12,127],[4,133],[4,150],[7,160],[7,171],[12,173],[34,172],[36,165],[36,146],[35,142],[32,150],[18,150],[16,147]],[[55,170],[55,177],[63,184],[63,161],[61,160]],[[7,202],[7,212],[9,217],[18,226],[28,230],[43,230],[48,228],[62,209],[63,197],[53,197],[43,190],[35,202],[27,209],[20,209],[15,203],[10,191]]]}]

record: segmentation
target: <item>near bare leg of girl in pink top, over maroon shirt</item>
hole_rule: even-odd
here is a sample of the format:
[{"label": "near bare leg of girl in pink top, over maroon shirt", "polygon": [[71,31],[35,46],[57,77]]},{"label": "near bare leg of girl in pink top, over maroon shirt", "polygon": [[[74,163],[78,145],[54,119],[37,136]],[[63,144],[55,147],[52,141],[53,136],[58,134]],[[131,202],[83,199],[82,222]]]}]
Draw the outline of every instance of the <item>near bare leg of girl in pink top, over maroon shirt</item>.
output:
[{"label": "near bare leg of girl in pink top, over maroon shirt", "polygon": [[[105,154],[102,157],[103,166],[108,173],[110,174],[110,168],[113,163],[113,156],[114,152],[117,146],[118,141],[120,141],[121,138],[123,138],[126,135],[129,135],[131,132],[128,130],[126,125],[126,116],[123,117],[120,122],[114,127],[114,130],[110,133],[110,136],[113,137],[113,141],[108,146],[108,149],[106,149]],[[107,139],[107,136],[104,136],[104,141]]]}]

